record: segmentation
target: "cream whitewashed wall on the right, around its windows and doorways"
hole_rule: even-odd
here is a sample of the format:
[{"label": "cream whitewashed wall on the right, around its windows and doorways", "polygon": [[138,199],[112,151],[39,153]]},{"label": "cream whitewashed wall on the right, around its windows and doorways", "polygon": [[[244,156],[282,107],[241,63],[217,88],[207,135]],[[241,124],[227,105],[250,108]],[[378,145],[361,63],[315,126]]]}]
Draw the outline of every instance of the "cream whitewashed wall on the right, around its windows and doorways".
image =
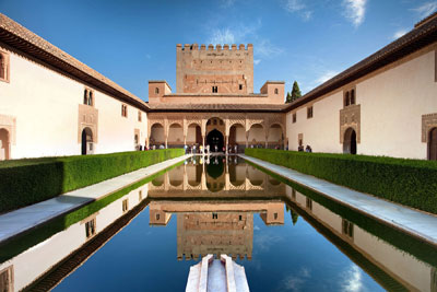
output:
[{"label": "cream whitewashed wall on the right, around its windows and doorways", "polygon": [[[421,140],[422,115],[437,113],[436,48],[433,44],[344,86],[356,85],[356,104],[361,105],[358,154],[427,157],[427,144]],[[314,117],[307,119],[311,104]],[[311,145],[315,152],[342,153],[341,108],[343,87],[287,113],[290,150],[297,150],[298,133],[303,133],[304,145]],[[293,124],[295,112],[297,121]]]}]

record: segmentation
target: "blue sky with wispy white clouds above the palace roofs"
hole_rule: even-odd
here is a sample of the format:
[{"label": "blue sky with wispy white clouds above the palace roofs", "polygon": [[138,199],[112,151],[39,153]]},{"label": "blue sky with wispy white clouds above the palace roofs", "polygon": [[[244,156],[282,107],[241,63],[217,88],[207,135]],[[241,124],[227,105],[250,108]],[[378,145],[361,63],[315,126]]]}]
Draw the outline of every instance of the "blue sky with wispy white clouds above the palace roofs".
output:
[{"label": "blue sky with wispy white clouds above the palace roofs", "polygon": [[0,12],[128,91],[176,89],[176,44],[253,44],[255,92],[308,92],[437,9],[420,0],[0,0]]}]

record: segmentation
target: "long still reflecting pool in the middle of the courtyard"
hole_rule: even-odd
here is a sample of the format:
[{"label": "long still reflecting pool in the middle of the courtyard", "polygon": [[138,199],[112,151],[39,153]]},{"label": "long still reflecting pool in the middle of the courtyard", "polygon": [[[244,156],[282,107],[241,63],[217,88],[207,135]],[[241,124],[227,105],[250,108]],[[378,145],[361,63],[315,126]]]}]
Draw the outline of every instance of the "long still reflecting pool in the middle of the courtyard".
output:
[{"label": "long still reflecting pool in the middle of the courtyard", "polygon": [[190,159],[0,246],[0,288],[185,291],[190,266],[226,254],[251,291],[437,291],[435,246],[277,179]]}]

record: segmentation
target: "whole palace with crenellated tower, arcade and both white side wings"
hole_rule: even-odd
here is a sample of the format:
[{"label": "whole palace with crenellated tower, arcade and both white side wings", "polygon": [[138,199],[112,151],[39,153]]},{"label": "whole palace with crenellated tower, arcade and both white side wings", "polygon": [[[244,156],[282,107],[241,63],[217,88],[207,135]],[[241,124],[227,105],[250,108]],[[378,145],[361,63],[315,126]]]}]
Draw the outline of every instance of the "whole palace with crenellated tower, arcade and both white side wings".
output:
[{"label": "whole palace with crenellated tower, arcade and both white side wings", "polygon": [[[436,14],[293,103],[253,89],[248,45],[176,45],[176,90],[144,102],[0,14],[0,160],[245,148],[437,159]],[[172,72],[169,72],[170,74]]]}]

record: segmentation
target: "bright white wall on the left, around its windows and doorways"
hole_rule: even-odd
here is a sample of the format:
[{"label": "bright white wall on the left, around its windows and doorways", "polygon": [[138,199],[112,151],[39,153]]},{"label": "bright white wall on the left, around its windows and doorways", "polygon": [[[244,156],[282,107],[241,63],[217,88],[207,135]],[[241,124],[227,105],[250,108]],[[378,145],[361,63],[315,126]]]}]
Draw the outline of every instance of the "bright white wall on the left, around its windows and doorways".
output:
[{"label": "bright white wall on the left, around its windows and doorways", "polygon": [[[81,154],[78,114],[85,85],[0,48],[10,52],[10,82],[0,82],[0,115],[16,118],[16,142],[11,145],[11,157]],[[128,105],[128,118],[121,117],[120,101],[93,90],[98,109],[95,153],[133,150],[134,128],[140,129],[140,142],[144,144],[146,114],[142,113],[139,122],[139,109]]]}]

